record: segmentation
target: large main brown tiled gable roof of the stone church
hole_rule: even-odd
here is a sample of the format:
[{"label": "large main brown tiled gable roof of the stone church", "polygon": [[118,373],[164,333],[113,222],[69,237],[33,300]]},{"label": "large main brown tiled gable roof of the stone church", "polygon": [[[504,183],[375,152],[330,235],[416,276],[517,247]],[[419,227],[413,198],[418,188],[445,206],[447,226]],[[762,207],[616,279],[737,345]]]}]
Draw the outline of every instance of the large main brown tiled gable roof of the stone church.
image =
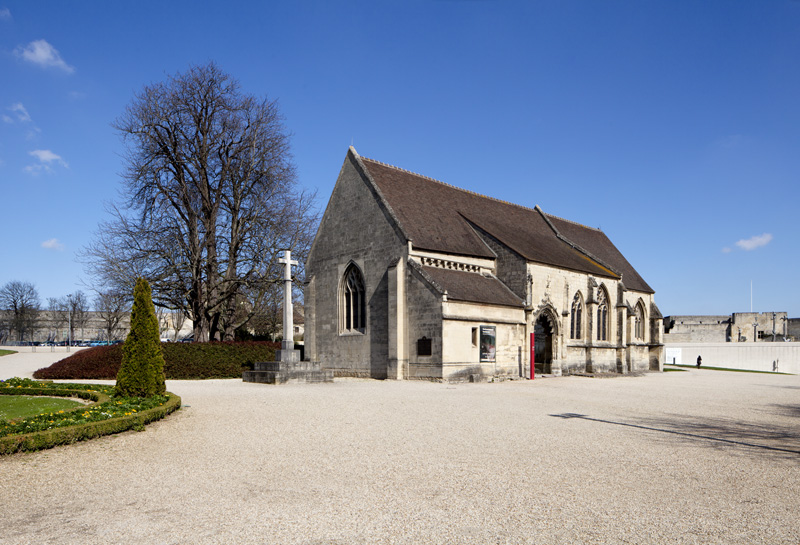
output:
[{"label": "large main brown tiled gable roof of the stone church", "polygon": [[606,278],[622,275],[627,288],[653,293],[599,229],[363,158],[352,147],[350,153],[417,249],[494,258],[477,228],[528,261]]}]

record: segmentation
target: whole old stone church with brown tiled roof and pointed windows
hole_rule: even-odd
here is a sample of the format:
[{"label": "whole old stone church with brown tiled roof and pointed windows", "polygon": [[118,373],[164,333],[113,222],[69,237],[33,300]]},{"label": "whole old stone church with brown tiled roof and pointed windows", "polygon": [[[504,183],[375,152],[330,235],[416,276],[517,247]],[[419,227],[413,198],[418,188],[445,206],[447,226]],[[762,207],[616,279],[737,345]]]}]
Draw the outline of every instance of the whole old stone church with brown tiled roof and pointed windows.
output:
[{"label": "whole old stone church with brown tiled roof and pointed windows", "polygon": [[598,229],[351,147],[306,262],[305,357],[392,379],[658,370],[653,296]]}]

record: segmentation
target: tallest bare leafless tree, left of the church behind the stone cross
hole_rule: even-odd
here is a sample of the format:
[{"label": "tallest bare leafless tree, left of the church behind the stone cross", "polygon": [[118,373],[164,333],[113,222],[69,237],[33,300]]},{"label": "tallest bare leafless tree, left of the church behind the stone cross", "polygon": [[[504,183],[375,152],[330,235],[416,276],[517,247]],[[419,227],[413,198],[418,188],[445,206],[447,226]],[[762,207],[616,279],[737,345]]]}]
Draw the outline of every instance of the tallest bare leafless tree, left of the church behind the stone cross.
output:
[{"label": "tallest bare leafless tree, left of the church behind the stone cross", "polygon": [[304,259],[317,222],[277,104],[211,63],[146,86],[115,128],[124,200],[84,253],[89,272],[117,290],[147,278],[196,340],[232,339],[280,281],[279,250]]}]

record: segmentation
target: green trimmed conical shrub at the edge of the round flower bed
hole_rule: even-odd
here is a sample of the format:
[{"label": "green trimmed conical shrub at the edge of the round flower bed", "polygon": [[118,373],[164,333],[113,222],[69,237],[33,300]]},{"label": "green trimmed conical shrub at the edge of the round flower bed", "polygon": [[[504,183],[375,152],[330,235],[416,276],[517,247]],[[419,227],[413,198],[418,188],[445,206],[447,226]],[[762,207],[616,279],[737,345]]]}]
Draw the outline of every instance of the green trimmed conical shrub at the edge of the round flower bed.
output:
[{"label": "green trimmed conical shrub at the edge of the round flower bed", "polygon": [[116,394],[150,397],[165,391],[158,318],[150,284],[139,278],[133,289],[131,331],[122,345],[122,366],[117,373]]}]

